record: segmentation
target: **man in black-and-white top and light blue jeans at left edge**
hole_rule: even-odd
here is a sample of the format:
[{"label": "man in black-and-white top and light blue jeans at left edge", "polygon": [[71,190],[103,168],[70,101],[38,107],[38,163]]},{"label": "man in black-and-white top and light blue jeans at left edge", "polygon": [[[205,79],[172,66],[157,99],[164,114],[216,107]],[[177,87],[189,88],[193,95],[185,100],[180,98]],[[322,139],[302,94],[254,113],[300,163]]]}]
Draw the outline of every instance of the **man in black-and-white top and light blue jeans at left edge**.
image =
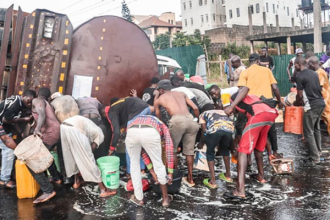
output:
[{"label": "man in black-and-white top and light blue jeans at left edge", "polygon": [[[23,95],[11,96],[0,103],[0,148],[2,149],[1,159],[1,179],[0,185],[8,189],[14,189],[15,183],[10,180],[15,159],[14,149],[16,143],[6,130],[6,124],[27,123],[32,120],[32,116],[21,118],[23,109],[31,109],[32,100],[36,97],[33,90],[27,90]],[[15,126],[18,134],[24,138],[24,133],[19,126]]]}]

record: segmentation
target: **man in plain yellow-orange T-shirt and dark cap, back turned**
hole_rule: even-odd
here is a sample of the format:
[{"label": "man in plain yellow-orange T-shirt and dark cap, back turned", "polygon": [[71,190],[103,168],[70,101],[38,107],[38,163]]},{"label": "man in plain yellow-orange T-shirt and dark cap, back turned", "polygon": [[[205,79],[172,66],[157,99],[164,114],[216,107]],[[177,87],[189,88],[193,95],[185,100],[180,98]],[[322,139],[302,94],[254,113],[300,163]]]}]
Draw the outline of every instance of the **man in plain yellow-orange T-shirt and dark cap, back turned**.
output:
[{"label": "man in plain yellow-orange T-shirt and dark cap, back turned", "polygon": [[[284,105],[281,101],[281,94],[272,71],[259,65],[259,54],[251,54],[249,62],[250,66],[242,72],[237,86],[249,88],[249,95],[255,95],[259,98],[263,96],[266,99],[272,99],[274,93],[277,101],[279,102],[279,108],[282,109]],[[278,157],[275,124],[269,130],[268,136],[272,145],[273,154],[275,157]]]}]

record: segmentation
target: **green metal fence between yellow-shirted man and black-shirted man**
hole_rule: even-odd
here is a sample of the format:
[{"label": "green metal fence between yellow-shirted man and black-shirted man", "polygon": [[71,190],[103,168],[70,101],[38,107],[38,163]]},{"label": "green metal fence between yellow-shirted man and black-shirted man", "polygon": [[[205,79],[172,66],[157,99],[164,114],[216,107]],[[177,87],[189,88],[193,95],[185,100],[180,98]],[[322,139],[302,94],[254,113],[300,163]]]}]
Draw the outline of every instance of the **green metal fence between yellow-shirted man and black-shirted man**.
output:
[{"label": "green metal fence between yellow-shirted man and black-shirted man", "polygon": [[[321,57],[323,53],[316,54],[317,57]],[[289,65],[290,60],[295,55],[280,55],[273,56],[275,69],[273,71],[275,79],[277,80],[277,85],[280,89],[281,95],[286,96],[292,87],[292,84],[289,83],[288,73],[286,68]]]}]

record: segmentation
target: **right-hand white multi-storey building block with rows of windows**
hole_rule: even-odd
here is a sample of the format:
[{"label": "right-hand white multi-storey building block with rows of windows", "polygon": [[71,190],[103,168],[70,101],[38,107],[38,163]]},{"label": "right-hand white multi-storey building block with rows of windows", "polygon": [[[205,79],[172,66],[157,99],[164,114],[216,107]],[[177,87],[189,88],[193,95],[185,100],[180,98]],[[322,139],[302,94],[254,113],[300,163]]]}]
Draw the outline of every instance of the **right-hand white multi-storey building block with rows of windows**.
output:
[{"label": "right-hand white multi-storey building block with rows of windows", "polygon": [[252,9],[252,24],[263,25],[263,12],[266,12],[267,26],[276,26],[276,15],[279,17],[280,27],[292,27],[292,18],[295,26],[300,27],[301,11],[298,5],[301,0],[231,0],[226,1],[226,15],[228,27],[232,25],[249,25],[248,7]]}]

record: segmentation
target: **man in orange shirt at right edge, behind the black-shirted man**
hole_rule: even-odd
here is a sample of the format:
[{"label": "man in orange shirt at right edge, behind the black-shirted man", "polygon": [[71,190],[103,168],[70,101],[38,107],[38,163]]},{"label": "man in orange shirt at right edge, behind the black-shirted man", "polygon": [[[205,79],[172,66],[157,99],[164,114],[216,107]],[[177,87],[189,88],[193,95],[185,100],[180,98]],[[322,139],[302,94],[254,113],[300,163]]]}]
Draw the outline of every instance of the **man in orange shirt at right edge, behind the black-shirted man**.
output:
[{"label": "man in orange shirt at right edge, behind the black-shirted man", "polygon": [[319,59],[316,56],[309,58],[308,68],[314,70],[319,76],[321,93],[325,102],[325,109],[322,113],[322,119],[327,124],[327,130],[330,135],[330,85],[327,72],[320,67]]}]

